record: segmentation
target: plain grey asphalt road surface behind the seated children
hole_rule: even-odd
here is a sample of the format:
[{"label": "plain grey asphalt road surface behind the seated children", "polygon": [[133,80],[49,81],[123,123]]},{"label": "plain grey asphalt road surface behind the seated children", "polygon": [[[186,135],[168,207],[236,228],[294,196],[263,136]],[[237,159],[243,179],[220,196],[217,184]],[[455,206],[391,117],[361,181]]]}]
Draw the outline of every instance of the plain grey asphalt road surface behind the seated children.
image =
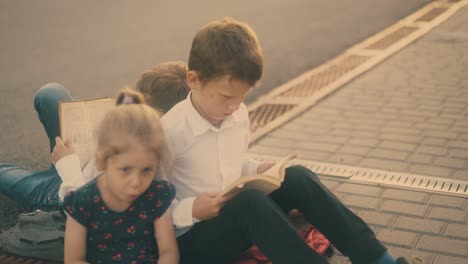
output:
[{"label": "plain grey asphalt road surface behind the seated children", "polygon": [[428,2],[0,0],[0,162],[49,166],[32,105],[40,86],[62,83],[78,99],[114,96],[154,64],[185,61],[212,19],[243,20],[260,38],[266,66],[251,102]]}]

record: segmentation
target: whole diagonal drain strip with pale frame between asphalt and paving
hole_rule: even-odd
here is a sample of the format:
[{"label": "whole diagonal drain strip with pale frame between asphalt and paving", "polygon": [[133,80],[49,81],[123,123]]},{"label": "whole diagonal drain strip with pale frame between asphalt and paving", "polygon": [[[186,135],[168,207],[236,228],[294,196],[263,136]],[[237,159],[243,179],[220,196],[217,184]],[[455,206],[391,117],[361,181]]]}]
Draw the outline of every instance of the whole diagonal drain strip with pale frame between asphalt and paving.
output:
[{"label": "whole diagonal drain strip with pale frame between asphalt and paving", "polygon": [[[448,2],[447,2],[448,1]],[[260,97],[249,106],[252,118],[252,142],[295,116],[307,111],[322,98],[365,73],[398,50],[411,44],[466,5],[468,0],[438,0],[425,6],[391,27],[356,44],[343,54],[311,71],[301,74]],[[437,19],[435,19],[437,18]],[[429,22],[417,22],[427,20]],[[271,114],[274,107],[262,105],[292,105],[280,114]],[[282,115],[280,118],[277,118]],[[273,122],[269,122],[273,121]]]}]

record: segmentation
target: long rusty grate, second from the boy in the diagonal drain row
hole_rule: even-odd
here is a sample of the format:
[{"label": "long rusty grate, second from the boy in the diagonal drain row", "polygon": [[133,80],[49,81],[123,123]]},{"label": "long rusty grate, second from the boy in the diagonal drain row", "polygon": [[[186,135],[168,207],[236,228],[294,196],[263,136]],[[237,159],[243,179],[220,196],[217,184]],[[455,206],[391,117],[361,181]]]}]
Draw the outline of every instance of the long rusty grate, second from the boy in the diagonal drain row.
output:
[{"label": "long rusty grate, second from the boy in the diagonal drain row", "polygon": [[317,90],[320,90],[328,84],[338,80],[349,71],[366,62],[369,58],[370,57],[368,56],[348,55],[337,63],[327,67],[325,70],[310,76],[295,86],[292,86],[277,97],[307,97],[315,93]]}]

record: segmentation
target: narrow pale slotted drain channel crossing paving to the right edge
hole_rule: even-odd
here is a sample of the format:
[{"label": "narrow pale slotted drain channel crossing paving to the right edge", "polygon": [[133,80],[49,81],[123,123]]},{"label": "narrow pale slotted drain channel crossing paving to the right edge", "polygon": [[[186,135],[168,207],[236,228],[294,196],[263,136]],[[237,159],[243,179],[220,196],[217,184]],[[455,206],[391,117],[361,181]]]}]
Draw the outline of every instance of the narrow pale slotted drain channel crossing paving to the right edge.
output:
[{"label": "narrow pale slotted drain channel crossing paving to the right edge", "polygon": [[[280,160],[281,157],[251,154],[259,161]],[[332,163],[294,159],[290,165],[302,165],[318,175],[347,178],[349,180],[418,189],[448,195],[468,197],[468,182],[454,179],[391,172],[385,170],[346,166]]]}]

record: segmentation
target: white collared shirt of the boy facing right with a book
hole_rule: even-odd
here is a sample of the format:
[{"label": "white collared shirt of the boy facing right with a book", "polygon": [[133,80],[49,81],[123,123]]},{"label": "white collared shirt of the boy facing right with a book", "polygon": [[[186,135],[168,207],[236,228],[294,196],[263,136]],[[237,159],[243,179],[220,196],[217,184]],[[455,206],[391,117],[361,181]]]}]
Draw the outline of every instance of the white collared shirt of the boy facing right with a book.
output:
[{"label": "white collared shirt of the boy facing right with a book", "polygon": [[174,158],[168,179],[176,188],[172,216],[178,235],[198,221],[192,207],[200,193],[220,192],[241,175],[255,175],[259,164],[247,157],[250,131],[244,104],[217,128],[197,112],[190,97],[161,119]]}]

